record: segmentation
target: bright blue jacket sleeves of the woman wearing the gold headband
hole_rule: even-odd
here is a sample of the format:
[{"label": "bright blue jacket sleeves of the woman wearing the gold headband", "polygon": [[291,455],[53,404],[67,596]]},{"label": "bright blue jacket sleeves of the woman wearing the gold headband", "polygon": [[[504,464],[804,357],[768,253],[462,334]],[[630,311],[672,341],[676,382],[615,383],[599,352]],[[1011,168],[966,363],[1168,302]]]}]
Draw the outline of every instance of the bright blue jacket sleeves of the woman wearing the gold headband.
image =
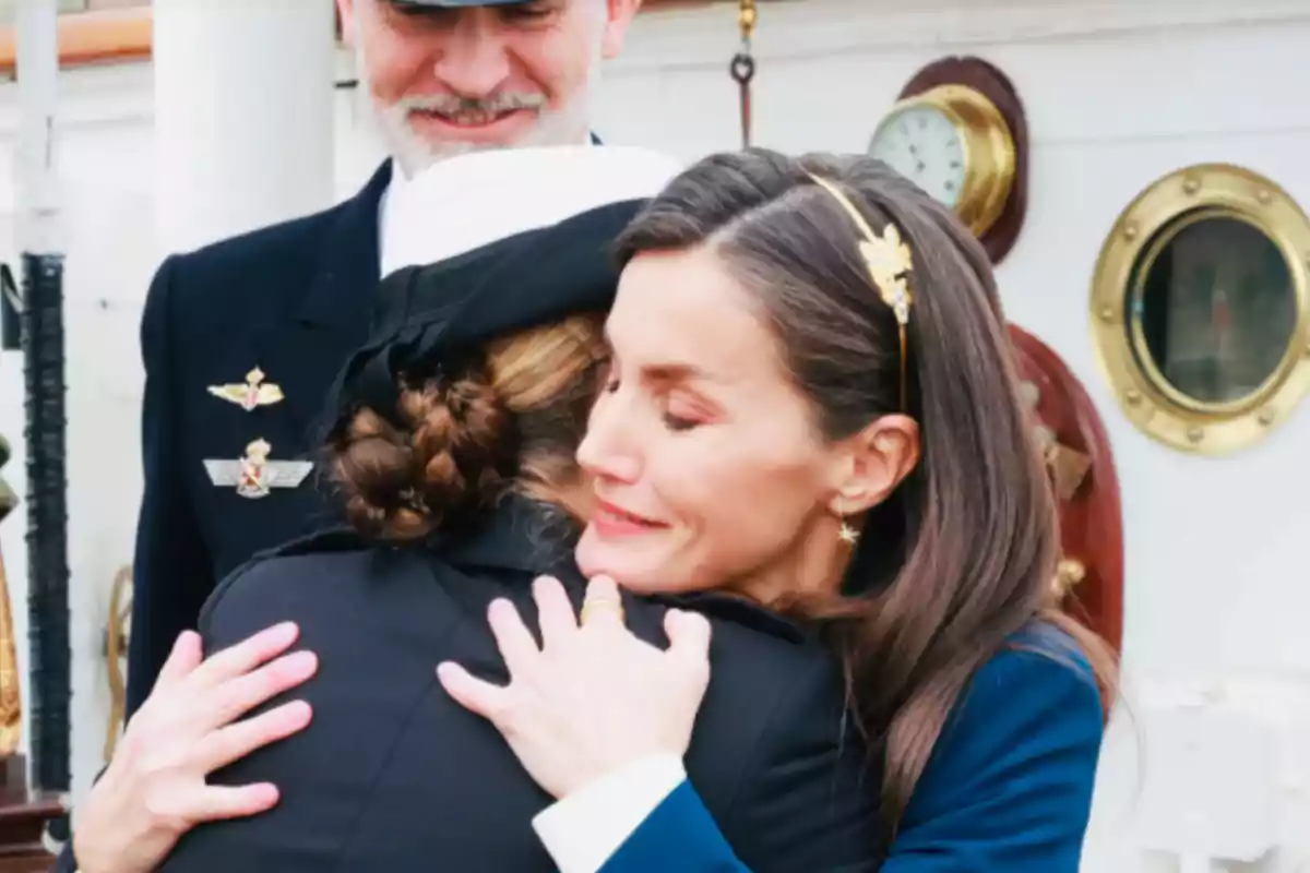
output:
[{"label": "bright blue jacket sleeves of the woman wearing the gold headband", "polygon": [[[969,683],[882,873],[1078,872],[1100,753],[1100,696],[1068,640],[1040,633],[1026,643],[997,654]],[[758,873],[714,819],[697,787],[683,783],[600,873]]]}]

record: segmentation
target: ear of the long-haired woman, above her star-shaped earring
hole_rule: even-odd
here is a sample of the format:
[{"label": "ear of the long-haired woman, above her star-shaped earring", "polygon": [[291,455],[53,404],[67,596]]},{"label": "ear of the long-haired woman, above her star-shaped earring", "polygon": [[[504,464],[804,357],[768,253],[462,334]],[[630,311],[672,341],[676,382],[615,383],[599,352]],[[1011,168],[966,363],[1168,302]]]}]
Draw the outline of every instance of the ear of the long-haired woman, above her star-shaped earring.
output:
[{"label": "ear of the long-haired woman, above her star-shaped earring", "polygon": [[918,423],[908,415],[884,415],[836,450],[829,509],[855,516],[887,500],[918,465]]}]

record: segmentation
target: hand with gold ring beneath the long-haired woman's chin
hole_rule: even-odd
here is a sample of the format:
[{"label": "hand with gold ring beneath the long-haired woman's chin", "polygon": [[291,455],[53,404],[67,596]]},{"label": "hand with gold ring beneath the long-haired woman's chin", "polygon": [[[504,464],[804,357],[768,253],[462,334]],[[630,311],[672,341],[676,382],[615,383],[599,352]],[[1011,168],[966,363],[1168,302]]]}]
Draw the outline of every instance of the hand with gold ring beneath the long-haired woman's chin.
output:
[{"label": "hand with gold ring beneath the long-haired woman's chin", "polygon": [[588,586],[580,626],[558,581],[538,579],[533,596],[541,647],[510,602],[495,601],[489,610],[510,685],[441,664],[447,692],[490,720],[557,798],[639,758],[683,757],[710,682],[710,623],[671,610],[664,619],[671,645],[662,650],[624,626],[618,588],[609,579]]}]

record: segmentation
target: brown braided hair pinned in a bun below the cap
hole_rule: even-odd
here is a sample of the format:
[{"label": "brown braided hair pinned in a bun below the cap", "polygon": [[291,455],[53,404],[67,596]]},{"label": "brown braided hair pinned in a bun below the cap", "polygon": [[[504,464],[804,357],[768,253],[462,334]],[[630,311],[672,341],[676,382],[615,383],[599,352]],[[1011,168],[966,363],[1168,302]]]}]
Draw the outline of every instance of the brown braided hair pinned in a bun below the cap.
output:
[{"label": "brown braided hair pinned in a bun below the cap", "polygon": [[376,539],[421,539],[508,491],[574,509],[574,452],[605,361],[603,319],[523,331],[457,372],[409,383],[400,424],[355,411],[326,446],[350,524]]}]

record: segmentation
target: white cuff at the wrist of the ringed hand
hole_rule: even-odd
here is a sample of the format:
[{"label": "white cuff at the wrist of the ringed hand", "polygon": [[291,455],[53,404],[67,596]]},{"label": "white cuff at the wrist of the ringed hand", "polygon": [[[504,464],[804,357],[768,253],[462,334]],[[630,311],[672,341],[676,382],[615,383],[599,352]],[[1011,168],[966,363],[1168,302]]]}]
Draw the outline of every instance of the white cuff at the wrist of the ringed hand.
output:
[{"label": "white cuff at the wrist of the ringed hand", "polygon": [[555,801],[532,827],[559,873],[597,873],[686,779],[677,755],[651,755]]}]

